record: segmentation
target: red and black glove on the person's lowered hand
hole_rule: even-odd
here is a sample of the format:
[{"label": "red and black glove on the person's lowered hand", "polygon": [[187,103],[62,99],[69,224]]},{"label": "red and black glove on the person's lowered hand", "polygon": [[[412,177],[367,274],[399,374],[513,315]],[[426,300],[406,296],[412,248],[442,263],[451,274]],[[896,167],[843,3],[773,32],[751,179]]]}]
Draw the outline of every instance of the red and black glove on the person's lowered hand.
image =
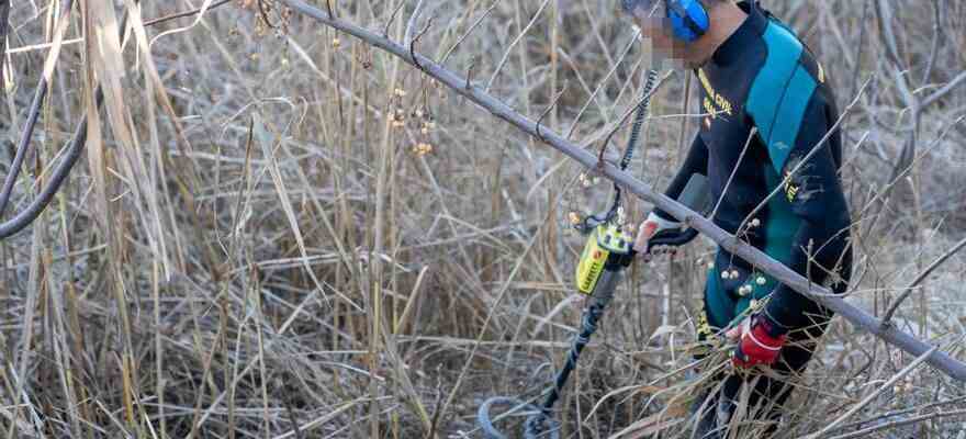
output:
[{"label": "red and black glove on the person's lowered hand", "polygon": [[729,330],[727,337],[738,340],[738,346],[731,352],[731,362],[737,368],[774,364],[788,338],[777,324],[763,314],[745,318]]}]

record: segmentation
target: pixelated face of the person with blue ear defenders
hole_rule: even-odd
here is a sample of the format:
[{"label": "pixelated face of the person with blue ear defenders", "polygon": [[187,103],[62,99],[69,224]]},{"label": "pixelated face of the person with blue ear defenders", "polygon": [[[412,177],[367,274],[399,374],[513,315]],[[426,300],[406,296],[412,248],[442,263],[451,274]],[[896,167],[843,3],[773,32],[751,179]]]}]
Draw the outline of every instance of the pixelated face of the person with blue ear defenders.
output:
[{"label": "pixelated face of the person with blue ear defenders", "polygon": [[689,61],[688,44],[674,36],[671,21],[663,1],[660,0],[622,0],[624,10],[631,14],[634,24],[641,30],[641,37],[647,48],[656,57],[654,65],[665,61],[672,68],[693,68]]}]

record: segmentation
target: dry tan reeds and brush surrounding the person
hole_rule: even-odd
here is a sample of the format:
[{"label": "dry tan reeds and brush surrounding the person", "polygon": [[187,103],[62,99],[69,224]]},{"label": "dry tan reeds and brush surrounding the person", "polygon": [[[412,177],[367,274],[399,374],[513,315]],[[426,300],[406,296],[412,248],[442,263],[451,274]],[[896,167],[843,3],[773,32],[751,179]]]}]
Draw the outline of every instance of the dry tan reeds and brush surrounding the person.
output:
[{"label": "dry tan reeds and brush surrounding the person", "polygon": [[[650,67],[610,1],[315,3],[418,36],[420,53],[588,148]],[[840,106],[861,92],[844,122],[850,295],[883,315],[966,233],[966,2],[763,3],[818,53]],[[607,184],[584,188],[533,138],[271,1],[10,5],[3,176],[59,54],[3,218],[82,119],[89,135],[50,207],[0,241],[0,435],[480,437],[484,398],[547,385],[579,316],[569,215]],[[695,93],[676,72],[652,102],[631,169],[659,188],[697,126]],[[649,209],[627,207],[629,222]],[[700,240],[631,270],[560,406],[564,437],[673,418],[711,251]],[[894,322],[966,359],[964,280],[954,254]],[[836,319],[780,437],[854,409],[823,437],[966,438],[962,383],[920,367],[883,389],[911,361]]]}]

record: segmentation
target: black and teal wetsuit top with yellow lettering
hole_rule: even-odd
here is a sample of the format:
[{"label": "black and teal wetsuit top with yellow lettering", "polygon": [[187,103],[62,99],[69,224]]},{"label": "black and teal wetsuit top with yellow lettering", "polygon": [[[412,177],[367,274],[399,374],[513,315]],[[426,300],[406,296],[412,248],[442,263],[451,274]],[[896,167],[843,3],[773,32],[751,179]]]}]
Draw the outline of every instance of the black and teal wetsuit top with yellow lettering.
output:
[{"label": "black and teal wetsuit top with yellow lettering", "polygon": [[[840,133],[819,145],[839,117],[828,74],[795,33],[760,5],[740,7],[748,19],[696,70],[707,115],[666,194],[677,198],[693,173],[706,175],[714,199],[721,200],[715,224],[802,275],[810,274],[813,282],[844,291],[852,262],[851,219],[838,175]],[[817,154],[806,160],[816,147]],[[749,217],[779,185],[778,194]],[[666,212],[656,213],[673,221]],[[739,230],[743,223],[746,227]],[[721,279],[726,270],[739,275]],[[807,326],[808,315],[820,311],[724,249],[718,251],[712,274],[719,294],[730,295],[733,303],[746,306],[771,294],[765,311],[783,326]],[[733,318],[734,313],[722,318]]]}]

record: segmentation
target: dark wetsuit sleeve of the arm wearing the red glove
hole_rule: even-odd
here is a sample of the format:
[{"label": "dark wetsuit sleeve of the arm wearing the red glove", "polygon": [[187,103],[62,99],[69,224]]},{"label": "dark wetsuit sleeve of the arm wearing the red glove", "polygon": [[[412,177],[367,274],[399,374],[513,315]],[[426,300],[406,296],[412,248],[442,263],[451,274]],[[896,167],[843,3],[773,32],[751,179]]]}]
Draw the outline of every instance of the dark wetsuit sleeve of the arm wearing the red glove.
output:
[{"label": "dark wetsuit sleeve of the arm wearing the red glove", "polygon": [[[851,269],[849,254],[849,205],[839,179],[841,148],[839,133],[828,135],[838,117],[833,104],[816,93],[806,105],[794,145],[772,136],[768,156],[783,181],[780,193],[797,219],[787,264],[817,284],[844,284]],[[828,137],[828,138],[827,138]],[[787,137],[786,137],[787,138]],[[822,140],[825,142],[822,142]],[[808,157],[812,149],[816,149]],[[809,313],[820,309],[808,297],[779,284],[772,293],[765,312],[779,326],[798,329],[810,326]]]}]

